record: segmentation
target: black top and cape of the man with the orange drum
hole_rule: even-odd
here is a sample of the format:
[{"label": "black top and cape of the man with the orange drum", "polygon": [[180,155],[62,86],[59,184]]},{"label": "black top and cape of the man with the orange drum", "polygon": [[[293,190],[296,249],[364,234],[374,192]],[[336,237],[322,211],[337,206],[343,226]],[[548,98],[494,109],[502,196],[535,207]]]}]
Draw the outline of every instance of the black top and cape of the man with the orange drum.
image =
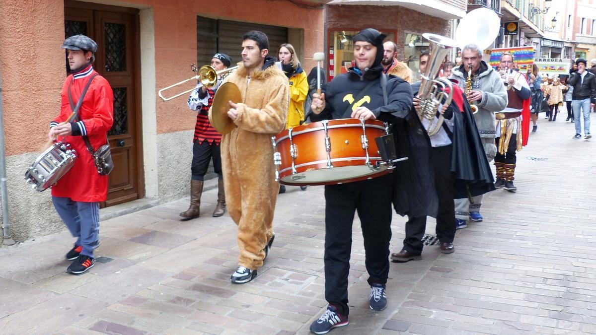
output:
[{"label": "black top and cape of the man with the orange drum", "polygon": [[[420,119],[412,108],[412,91],[409,83],[395,76],[387,79],[387,105],[381,88],[382,66],[373,67],[364,75],[350,69],[322,87],[325,109],[318,115],[311,113],[312,122],[324,119],[350,117],[349,101],[370,82],[374,82],[361,106],[367,107],[378,120],[389,122],[395,139],[398,157],[408,160],[398,162],[393,170],[393,206],[399,215],[415,217],[436,215],[438,201],[434,192],[434,179],[429,169],[430,139]],[[351,96],[351,99],[349,95]],[[370,102],[368,101],[370,100]]]}]

